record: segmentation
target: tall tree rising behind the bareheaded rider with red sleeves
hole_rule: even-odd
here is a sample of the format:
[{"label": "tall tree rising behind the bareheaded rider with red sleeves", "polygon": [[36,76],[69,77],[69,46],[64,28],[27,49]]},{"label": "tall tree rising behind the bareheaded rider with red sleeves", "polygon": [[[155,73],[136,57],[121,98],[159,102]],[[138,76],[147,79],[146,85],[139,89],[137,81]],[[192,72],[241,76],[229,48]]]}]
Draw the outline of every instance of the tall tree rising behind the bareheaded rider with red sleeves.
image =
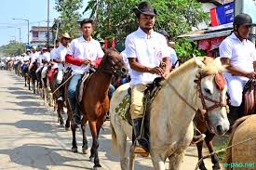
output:
[{"label": "tall tree rising behind the bareheaded rider with red sleeves", "polygon": [[61,33],[69,33],[72,38],[79,35],[78,20],[81,15],[78,9],[82,7],[83,0],[55,0],[55,8],[61,13]]}]

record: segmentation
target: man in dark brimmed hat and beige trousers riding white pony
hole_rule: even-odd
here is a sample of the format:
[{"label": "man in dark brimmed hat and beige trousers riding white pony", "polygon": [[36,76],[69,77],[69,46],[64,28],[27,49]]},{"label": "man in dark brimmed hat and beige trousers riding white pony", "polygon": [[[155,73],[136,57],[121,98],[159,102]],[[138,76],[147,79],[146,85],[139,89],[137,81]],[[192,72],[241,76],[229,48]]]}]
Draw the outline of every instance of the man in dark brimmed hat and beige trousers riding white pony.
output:
[{"label": "man in dark brimmed hat and beige trousers riding white pony", "polygon": [[[152,84],[156,77],[166,77],[169,72],[168,46],[165,37],[156,33],[155,9],[148,3],[142,2],[134,8],[139,28],[128,34],[126,38],[126,55],[130,66],[131,105],[130,115],[132,119],[134,152],[148,156],[148,138],[141,137],[141,121],[143,117],[144,90],[148,84]],[[165,62],[166,67],[160,67]],[[143,128],[142,128],[143,129]]]}]

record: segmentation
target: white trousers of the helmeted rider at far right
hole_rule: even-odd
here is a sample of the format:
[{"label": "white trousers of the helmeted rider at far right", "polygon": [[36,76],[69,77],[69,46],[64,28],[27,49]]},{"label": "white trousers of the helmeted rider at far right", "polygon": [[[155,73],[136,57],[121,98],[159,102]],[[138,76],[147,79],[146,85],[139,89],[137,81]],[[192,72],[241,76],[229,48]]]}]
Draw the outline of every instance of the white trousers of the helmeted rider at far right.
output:
[{"label": "white trousers of the helmeted rider at far right", "polygon": [[242,103],[243,99],[243,88],[248,82],[248,78],[233,76],[230,73],[224,74],[227,81],[227,92],[230,97],[230,104],[238,107]]}]

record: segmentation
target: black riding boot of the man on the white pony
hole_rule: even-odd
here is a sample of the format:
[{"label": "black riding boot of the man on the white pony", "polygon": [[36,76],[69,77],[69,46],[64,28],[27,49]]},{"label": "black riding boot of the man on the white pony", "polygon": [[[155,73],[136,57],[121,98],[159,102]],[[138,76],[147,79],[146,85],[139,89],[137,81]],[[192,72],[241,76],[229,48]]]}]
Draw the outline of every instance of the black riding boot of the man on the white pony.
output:
[{"label": "black riding boot of the man on the white pony", "polygon": [[149,142],[146,137],[142,137],[142,118],[132,119],[133,134],[134,134],[134,153],[141,153],[141,156],[147,157],[149,155]]}]

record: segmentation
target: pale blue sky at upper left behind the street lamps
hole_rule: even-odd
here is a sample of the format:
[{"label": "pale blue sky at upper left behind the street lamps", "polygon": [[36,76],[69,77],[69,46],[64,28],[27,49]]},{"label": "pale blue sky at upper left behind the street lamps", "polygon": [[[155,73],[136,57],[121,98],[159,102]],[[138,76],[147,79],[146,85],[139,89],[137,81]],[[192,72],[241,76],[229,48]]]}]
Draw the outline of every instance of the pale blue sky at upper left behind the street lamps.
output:
[{"label": "pale blue sky at upper left behind the street lamps", "polygon": [[[88,2],[88,0],[83,1],[80,13]],[[54,7],[55,0],[49,0],[50,26],[52,21],[60,16]],[[30,29],[32,26],[47,26],[47,0],[0,0],[0,46],[7,45],[10,40],[27,43],[28,22],[12,19],[29,20]],[[30,40],[31,38],[30,33]]]}]

